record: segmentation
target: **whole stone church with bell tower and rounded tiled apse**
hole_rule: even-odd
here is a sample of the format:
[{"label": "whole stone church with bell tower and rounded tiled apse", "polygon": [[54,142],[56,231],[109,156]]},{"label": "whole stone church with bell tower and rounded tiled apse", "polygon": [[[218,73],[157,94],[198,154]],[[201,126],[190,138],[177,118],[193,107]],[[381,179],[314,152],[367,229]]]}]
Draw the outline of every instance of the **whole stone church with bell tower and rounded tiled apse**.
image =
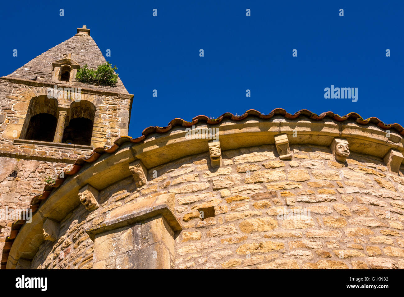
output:
[{"label": "whole stone church with bell tower and rounded tiled apse", "polygon": [[83,26],[0,78],[2,269],[404,269],[402,126],[277,108],[132,138],[122,81],[76,82],[104,62]]}]

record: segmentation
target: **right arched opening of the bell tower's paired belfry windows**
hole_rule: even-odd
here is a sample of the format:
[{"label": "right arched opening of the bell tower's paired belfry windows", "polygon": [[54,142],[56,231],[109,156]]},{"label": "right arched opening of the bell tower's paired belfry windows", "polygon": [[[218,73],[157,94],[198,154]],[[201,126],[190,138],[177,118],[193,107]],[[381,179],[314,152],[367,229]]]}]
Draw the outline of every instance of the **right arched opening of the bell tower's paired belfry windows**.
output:
[{"label": "right arched opening of the bell tower's paired belfry windows", "polygon": [[63,143],[91,145],[95,106],[90,101],[73,101],[70,105],[69,124],[63,131]]}]

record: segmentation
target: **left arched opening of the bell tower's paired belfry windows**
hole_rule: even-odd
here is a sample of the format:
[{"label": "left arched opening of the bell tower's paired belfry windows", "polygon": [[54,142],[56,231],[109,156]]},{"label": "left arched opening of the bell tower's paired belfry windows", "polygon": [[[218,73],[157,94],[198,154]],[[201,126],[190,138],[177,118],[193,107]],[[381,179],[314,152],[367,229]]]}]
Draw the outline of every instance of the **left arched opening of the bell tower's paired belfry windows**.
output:
[{"label": "left arched opening of the bell tower's paired belfry windows", "polygon": [[29,102],[20,139],[53,142],[57,124],[57,100],[46,95]]}]

